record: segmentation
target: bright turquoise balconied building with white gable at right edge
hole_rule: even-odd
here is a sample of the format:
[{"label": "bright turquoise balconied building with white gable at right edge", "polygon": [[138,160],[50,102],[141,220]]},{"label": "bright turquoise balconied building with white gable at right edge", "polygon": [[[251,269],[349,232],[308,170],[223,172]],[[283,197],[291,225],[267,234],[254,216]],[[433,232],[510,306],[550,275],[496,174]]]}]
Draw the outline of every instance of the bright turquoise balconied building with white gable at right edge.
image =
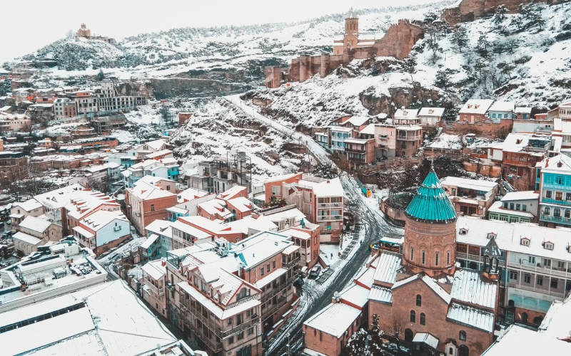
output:
[{"label": "bright turquoise balconied building with white gable at right edge", "polygon": [[540,225],[571,226],[571,158],[557,155],[537,164]]}]

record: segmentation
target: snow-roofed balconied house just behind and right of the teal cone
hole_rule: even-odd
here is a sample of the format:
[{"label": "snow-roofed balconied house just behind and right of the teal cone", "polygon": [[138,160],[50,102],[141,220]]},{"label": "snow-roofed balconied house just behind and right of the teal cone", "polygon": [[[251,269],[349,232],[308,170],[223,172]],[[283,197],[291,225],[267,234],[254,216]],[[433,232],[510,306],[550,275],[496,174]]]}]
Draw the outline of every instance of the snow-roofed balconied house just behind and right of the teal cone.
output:
[{"label": "snow-roofed balconied house just behind and right of the teal cone", "polygon": [[445,177],[440,181],[457,213],[484,219],[494,204],[500,186],[484,179]]}]

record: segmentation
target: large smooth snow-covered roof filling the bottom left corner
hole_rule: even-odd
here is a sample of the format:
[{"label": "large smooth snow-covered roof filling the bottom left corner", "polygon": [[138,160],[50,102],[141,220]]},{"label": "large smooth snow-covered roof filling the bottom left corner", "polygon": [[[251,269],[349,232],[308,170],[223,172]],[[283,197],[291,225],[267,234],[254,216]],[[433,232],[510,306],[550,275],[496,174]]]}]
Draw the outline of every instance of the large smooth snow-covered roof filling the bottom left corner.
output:
[{"label": "large smooth snow-covered roof filling the bottom left corner", "polygon": [[[79,305],[76,310],[1,333],[3,352],[6,355],[24,352],[34,355],[138,355],[156,349],[157,345],[176,341],[176,337],[121,280],[9,313],[38,318],[57,304],[66,308],[73,302]],[[44,305],[47,309],[38,308]],[[28,308],[33,310],[28,313]],[[16,319],[24,321],[21,317]]]}]

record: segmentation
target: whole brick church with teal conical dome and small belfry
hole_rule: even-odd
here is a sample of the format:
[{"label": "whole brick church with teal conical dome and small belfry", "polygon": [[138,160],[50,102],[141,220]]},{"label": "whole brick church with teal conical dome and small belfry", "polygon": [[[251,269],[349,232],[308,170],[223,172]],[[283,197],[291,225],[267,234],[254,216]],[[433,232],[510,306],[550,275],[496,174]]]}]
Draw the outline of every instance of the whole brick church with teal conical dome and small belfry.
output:
[{"label": "whole brick church with teal conical dome and small belfry", "polygon": [[457,219],[430,171],[406,209],[403,254],[382,251],[378,256],[368,319],[379,315],[381,330],[428,352],[481,355],[494,340],[500,249],[491,236],[483,271],[458,267]]}]

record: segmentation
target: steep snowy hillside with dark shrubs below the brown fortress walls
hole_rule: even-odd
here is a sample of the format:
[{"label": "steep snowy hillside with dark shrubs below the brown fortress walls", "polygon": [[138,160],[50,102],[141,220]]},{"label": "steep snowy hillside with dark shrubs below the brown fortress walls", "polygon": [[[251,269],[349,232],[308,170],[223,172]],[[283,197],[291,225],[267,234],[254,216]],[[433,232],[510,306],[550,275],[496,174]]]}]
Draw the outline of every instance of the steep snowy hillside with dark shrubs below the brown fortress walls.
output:
[{"label": "steep snowy hillside with dark shrubs below the brown fortress walls", "polygon": [[530,5],[521,14],[463,23],[452,32],[432,22],[428,14],[413,61],[353,61],[326,78],[246,96],[272,100],[263,111],[298,129],[347,114],[391,115],[403,105],[458,110],[470,98],[496,98],[545,112],[571,98],[571,4]]}]

